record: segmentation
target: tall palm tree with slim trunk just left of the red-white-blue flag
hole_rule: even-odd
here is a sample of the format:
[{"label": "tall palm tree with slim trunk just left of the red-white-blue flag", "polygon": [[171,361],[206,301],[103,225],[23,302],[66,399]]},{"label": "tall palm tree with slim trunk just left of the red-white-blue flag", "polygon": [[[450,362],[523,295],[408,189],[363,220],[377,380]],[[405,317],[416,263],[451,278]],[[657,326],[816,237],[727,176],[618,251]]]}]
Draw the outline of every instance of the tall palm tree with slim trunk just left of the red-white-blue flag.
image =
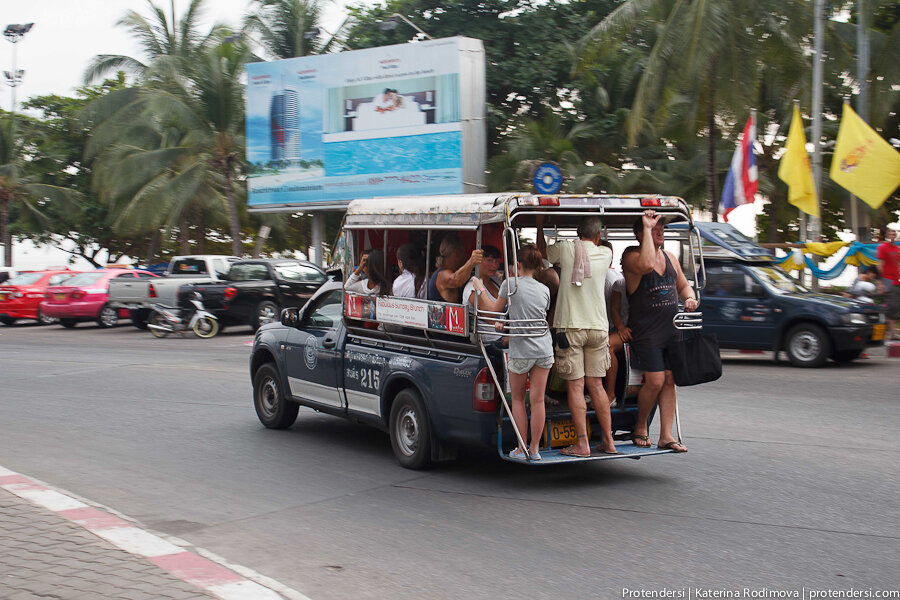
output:
[{"label": "tall palm tree with slim trunk just left of the red-white-blue flag", "polygon": [[635,143],[645,119],[661,129],[674,124],[701,132],[715,218],[720,123],[748,113],[771,68],[791,74],[807,68],[804,37],[791,28],[810,23],[809,12],[803,0],[626,0],[586,36],[583,47],[590,57],[617,47],[611,42],[647,45],[629,142]]}]

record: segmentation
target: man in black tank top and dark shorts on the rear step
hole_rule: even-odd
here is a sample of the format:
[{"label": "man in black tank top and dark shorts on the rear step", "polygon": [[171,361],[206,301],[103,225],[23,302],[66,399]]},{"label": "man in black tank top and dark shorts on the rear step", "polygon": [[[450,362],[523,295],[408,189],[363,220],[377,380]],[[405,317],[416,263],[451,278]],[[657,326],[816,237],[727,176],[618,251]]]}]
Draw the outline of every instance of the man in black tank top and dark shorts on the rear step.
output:
[{"label": "man in black tank top and dark shorts on the rear step", "polygon": [[675,333],[672,317],[678,312],[678,299],[684,309],[697,309],[694,292],[681,272],[678,260],[663,248],[663,223],[655,211],[644,211],[634,224],[639,246],[622,255],[625,292],[628,296],[628,327],[631,328],[633,366],[644,372],[644,385],[638,395],[637,421],[631,441],[649,447],[647,418],[659,404],[659,441],[657,446],[687,452],[672,435],[675,420],[675,380],[667,368],[665,348]]}]

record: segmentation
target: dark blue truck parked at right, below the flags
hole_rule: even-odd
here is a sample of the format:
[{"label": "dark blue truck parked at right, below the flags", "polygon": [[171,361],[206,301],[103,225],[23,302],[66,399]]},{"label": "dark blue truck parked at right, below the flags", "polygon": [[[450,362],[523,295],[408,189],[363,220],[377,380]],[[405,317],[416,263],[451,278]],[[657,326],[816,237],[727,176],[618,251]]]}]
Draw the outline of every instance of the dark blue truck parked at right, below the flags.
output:
[{"label": "dark blue truck parked at right, below the flags", "polygon": [[694,225],[706,266],[699,310],[720,348],[784,351],[795,366],[820,367],[882,343],[884,314],[875,305],[807,290],[732,225]]}]

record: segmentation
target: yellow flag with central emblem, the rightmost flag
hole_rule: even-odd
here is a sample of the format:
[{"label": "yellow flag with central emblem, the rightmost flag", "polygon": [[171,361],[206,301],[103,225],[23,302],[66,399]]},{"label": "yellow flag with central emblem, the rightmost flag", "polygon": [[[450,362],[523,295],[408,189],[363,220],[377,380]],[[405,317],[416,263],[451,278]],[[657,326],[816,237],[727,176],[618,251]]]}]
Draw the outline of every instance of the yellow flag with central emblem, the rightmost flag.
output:
[{"label": "yellow flag with central emblem, the rightmost flag", "polygon": [[900,152],[844,104],[831,178],[872,208],[880,208],[900,185]]}]

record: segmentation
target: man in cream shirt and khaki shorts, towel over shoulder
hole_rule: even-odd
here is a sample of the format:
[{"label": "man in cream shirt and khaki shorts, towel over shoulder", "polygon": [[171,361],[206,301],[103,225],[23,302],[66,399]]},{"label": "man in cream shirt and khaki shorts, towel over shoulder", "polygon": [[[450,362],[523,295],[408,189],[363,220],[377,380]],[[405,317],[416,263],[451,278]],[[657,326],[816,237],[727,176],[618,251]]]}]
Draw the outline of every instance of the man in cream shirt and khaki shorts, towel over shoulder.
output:
[{"label": "man in cream shirt and khaki shorts, towel over shoulder", "polygon": [[612,263],[612,251],[599,245],[603,223],[600,217],[586,217],[578,225],[577,240],[557,240],[549,247],[543,224],[544,217],[538,216],[538,249],[547,260],[559,263],[561,267],[553,319],[558,336],[556,370],[566,381],[569,411],[577,436],[575,443],[560,450],[560,454],[580,458],[591,455],[585,387],[603,432],[597,450],[603,454],[618,454],[612,437],[609,399],[602,379],[610,366],[609,325],[603,288],[606,270]]}]

